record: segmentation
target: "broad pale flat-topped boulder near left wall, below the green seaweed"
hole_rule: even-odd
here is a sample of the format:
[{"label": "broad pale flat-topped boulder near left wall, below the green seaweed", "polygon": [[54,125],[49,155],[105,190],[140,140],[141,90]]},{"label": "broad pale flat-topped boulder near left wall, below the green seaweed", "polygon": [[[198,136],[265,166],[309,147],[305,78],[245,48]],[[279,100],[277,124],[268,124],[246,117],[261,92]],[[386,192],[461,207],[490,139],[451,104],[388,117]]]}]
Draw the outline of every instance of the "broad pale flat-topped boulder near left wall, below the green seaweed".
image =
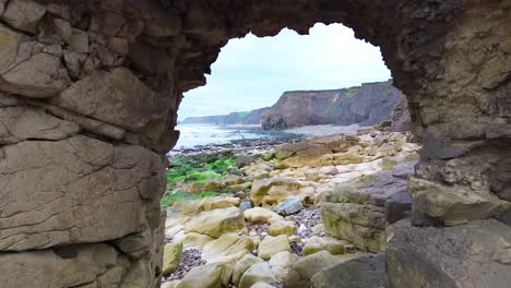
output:
[{"label": "broad pale flat-topped boulder near left wall, below the green seaweed", "polygon": [[243,213],[237,207],[201,212],[185,225],[186,232],[198,232],[213,238],[246,230]]}]

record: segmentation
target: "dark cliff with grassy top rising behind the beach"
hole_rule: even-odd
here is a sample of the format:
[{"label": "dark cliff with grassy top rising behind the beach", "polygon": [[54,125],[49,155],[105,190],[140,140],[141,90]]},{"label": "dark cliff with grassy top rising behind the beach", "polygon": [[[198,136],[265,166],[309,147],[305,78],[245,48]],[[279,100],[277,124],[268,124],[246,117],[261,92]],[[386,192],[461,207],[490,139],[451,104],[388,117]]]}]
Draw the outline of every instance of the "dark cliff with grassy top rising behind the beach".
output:
[{"label": "dark cliff with grassy top rising behind the beach", "polygon": [[286,92],[263,115],[262,127],[375,125],[390,120],[400,95],[390,81],[333,91]]}]

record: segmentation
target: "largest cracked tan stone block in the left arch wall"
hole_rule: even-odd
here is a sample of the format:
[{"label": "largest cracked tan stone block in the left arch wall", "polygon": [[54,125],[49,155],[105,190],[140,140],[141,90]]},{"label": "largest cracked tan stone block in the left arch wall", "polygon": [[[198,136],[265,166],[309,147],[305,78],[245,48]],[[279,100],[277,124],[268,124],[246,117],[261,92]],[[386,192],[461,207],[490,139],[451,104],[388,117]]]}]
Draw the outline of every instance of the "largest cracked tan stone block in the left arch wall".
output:
[{"label": "largest cracked tan stone block in the left arch wall", "polygon": [[79,135],[21,142],[0,154],[3,251],[114,240],[147,220],[158,226],[164,161],[148,149]]}]

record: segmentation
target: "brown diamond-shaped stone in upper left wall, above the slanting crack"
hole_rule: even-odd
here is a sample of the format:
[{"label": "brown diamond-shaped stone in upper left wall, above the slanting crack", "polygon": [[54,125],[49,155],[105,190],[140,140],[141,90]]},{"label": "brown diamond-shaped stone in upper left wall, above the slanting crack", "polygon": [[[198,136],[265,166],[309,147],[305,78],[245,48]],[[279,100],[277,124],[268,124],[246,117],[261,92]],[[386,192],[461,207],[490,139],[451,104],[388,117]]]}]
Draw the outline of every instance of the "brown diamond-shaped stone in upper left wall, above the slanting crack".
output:
[{"label": "brown diamond-shaped stone in upper left wall, above the slanting crack", "polygon": [[[108,101],[103,100],[105,95]],[[124,68],[96,71],[54,97],[51,103],[107,123],[143,131],[147,136],[155,136],[147,125],[162,121],[166,109],[163,99]]]}]

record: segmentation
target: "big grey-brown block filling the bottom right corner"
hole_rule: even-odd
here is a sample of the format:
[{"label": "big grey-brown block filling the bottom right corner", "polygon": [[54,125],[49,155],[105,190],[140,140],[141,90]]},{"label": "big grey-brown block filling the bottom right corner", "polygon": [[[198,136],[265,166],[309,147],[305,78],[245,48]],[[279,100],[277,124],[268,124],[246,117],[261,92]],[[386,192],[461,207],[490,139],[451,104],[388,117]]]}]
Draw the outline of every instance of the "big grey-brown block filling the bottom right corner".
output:
[{"label": "big grey-brown block filling the bottom right corner", "polygon": [[447,228],[403,219],[387,233],[390,286],[508,287],[510,242],[511,229],[496,219]]}]

